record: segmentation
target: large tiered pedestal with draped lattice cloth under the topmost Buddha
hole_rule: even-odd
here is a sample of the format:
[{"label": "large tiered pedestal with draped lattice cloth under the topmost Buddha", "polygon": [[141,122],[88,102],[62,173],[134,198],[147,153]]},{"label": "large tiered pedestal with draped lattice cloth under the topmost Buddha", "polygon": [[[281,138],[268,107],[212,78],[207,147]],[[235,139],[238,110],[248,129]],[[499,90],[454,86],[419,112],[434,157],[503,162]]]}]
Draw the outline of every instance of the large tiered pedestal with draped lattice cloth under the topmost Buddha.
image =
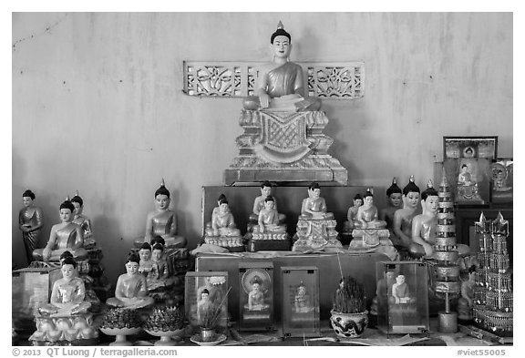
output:
[{"label": "large tiered pedestal with draped lattice cloth under the topmost Buddha", "polygon": [[328,118],[322,111],[246,110],[236,140],[239,156],[224,171],[224,182],[335,181],[346,185],[348,173],[328,154],[334,139],[323,134]]}]

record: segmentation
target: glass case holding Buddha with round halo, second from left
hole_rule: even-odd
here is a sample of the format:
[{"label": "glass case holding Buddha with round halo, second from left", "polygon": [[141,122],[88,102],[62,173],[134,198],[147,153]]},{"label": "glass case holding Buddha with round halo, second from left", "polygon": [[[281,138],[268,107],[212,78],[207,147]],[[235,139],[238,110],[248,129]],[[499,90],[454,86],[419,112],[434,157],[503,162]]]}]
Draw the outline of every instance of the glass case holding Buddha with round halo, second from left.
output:
[{"label": "glass case holding Buddha with round halo, second from left", "polygon": [[240,262],[239,288],[239,330],[274,330],[273,262]]}]

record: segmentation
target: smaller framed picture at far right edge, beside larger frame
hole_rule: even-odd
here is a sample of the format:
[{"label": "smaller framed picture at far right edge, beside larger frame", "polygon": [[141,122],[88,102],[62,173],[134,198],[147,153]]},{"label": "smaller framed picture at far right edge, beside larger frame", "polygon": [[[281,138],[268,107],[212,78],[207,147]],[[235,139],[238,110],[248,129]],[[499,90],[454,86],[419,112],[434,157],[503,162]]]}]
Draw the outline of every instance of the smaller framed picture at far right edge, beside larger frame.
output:
[{"label": "smaller framed picture at far right edge, beside larger frame", "polygon": [[514,161],[512,159],[496,159],[490,166],[490,201],[496,204],[512,202]]}]

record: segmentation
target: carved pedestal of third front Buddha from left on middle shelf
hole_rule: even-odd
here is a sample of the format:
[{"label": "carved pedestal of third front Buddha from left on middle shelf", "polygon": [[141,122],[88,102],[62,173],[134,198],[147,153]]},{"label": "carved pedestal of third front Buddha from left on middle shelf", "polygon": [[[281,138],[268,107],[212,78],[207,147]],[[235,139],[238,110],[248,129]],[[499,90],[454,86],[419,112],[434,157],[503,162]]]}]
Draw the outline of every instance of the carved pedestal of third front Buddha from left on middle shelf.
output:
[{"label": "carved pedestal of third front Buddha from left on middle shelf", "polygon": [[341,241],[337,240],[336,224],[335,220],[299,219],[292,251],[342,249]]}]

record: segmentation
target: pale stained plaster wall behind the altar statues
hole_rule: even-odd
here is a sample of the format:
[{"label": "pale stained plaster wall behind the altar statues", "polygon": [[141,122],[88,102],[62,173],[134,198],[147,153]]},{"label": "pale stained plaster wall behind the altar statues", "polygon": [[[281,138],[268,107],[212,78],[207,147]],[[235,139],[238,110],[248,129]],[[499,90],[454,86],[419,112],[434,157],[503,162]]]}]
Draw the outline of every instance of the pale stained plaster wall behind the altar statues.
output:
[{"label": "pale stained plaster wall behind the altar statues", "polygon": [[292,60],[365,61],[365,97],[323,107],[349,185],[424,186],[443,136],[499,136],[512,157],[510,13],[15,13],[13,261],[26,264],[22,192],[44,210],[44,245],[78,189],[115,281],[161,178],[193,248],[201,186],[221,185],[237,154],[242,100],[184,95],[182,61],[270,59],[279,20]]}]

